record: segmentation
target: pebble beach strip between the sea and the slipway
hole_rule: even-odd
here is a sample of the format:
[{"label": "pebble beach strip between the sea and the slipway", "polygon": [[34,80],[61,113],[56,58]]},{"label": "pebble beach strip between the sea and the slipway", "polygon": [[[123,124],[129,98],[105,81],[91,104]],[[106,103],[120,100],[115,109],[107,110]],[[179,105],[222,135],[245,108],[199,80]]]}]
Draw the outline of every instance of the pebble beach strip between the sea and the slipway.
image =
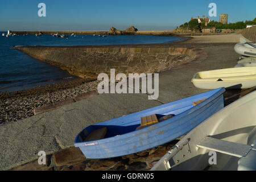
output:
[{"label": "pebble beach strip between the sea and the slipway", "polygon": [[97,80],[73,78],[59,84],[0,93],[0,125],[34,115],[34,109],[95,91]]}]

